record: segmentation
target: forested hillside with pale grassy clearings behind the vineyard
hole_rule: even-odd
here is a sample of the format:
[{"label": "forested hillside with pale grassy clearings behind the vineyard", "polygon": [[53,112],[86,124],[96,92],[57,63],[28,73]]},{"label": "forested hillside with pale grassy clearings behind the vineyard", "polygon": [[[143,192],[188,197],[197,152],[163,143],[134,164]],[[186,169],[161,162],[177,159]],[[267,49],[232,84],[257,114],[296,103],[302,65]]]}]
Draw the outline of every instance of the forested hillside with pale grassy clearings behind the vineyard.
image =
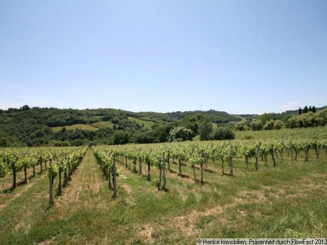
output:
[{"label": "forested hillside with pale grassy clearings behind the vineyard", "polygon": [[[220,111],[172,113],[130,112],[116,109],[57,109],[23,106],[0,110],[1,146],[82,145],[152,143],[170,140],[170,131],[179,127],[171,140],[198,134],[202,120],[238,121],[240,118]],[[188,133],[188,132],[186,132]],[[188,139],[189,139],[188,138]]]}]

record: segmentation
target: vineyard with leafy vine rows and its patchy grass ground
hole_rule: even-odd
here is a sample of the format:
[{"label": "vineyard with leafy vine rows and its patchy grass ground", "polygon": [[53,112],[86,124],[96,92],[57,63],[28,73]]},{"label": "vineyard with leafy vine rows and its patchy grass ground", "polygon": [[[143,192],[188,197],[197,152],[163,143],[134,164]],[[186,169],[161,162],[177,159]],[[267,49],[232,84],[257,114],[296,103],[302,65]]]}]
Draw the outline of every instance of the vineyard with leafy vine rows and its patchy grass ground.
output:
[{"label": "vineyard with leafy vine rows and its patchy grass ground", "polygon": [[265,136],[0,149],[0,243],[321,237],[327,140],[316,130],[302,139],[251,132]]}]

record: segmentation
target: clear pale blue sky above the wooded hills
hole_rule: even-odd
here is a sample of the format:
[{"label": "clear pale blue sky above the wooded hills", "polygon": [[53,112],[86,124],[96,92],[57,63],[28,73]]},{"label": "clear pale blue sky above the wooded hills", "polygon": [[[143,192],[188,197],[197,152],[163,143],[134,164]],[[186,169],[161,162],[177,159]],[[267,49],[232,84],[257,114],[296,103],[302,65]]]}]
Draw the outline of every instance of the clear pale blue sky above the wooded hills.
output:
[{"label": "clear pale blue sky above the wooded hills", "polygon": [[0,108],[327,105],[327,1],[0,0]]}]

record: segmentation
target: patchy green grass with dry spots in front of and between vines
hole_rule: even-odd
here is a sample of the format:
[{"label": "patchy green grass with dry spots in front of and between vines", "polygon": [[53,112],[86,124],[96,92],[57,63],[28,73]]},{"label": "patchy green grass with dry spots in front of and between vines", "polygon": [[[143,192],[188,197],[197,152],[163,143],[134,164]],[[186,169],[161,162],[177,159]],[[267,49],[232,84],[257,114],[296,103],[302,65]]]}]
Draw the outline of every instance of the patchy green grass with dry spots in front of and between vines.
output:
[{"label": "patchy green grass with dry spots in front of and between vines", "polygon": [[[89,150],[55,206],[48,209],[49,179],[37,175],[0,198],[0,244],[193,244],[197,237],[323,237],[327,234],[327,155],[309,162],[284,161],[273,167],[254,159],[246,168],[235,159],[235,176],[222,176],[221,162],[208,162],[205,184],[193,178],[188,163],[170,159],[168,191],[116,162],[118,198]],[[225,164],[225,170],[228,169]],[[138,170],[138,164],[137,164]],[[197,179],[200,168],[196,168]],[[58,178],[54,186],[57,186]],[[32,184],[32,185],[31,185]],[[29,188],[27,186],[31,185]],[[2,201],[4,200],[4,201]],[[10,200],[8,205],[7,201]],[[5,206],[3,206],[5,205]]]}]

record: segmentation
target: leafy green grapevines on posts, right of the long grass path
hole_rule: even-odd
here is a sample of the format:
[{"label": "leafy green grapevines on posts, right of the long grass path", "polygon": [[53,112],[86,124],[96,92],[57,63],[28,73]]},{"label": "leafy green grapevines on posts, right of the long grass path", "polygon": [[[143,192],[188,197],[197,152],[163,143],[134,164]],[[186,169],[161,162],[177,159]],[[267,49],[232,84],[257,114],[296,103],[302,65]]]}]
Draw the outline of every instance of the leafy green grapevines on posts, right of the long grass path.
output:
[{"label": "leafy green grapevines on posts, right of the long grass path", "polygon": [[[255,158],[255,170],[258,170],[259,158],[267,165],[268,157],[271,156],[273,166],[276,166],[277,158],[283,161],[285,152],[290,160],[298,160],[298,154],[305,152],[305,160],[309,160],[309,151],[314,150],[316,158],[323,150],[327,154],[327,140],[231,140],[231,141],[197,141],[160,144],[130,144],[113,146],[94,147],[98,162],[105,166],[111,166],[112,156],[120,159],[127,167],[127,160],[132,162],[132,169],[136,172],[136,165],[139,164],[139,172],[142,173],[142,163],[147,167],[147,179],[150,180],[150,169],[156,167],[159,171],[158,185],[161,180],[166,182],[165,171],[167,163],[170,170],[171,160],[178,160],[179,175],[182,176],[182,165],[189,163],[193,168],[196,179],[195,168],[201,168],[201,182],[203,183],[202,170],[208,170],[208,160],[222,162],[222,174],[233,175],[233,158],[244,158],[246,166],[250,158]],[[230,171],[225,173],[224,164],[229,163]],[[105,168],[107,169],[107,168]],[[107,170],[104,170],[107,171]]]}]

